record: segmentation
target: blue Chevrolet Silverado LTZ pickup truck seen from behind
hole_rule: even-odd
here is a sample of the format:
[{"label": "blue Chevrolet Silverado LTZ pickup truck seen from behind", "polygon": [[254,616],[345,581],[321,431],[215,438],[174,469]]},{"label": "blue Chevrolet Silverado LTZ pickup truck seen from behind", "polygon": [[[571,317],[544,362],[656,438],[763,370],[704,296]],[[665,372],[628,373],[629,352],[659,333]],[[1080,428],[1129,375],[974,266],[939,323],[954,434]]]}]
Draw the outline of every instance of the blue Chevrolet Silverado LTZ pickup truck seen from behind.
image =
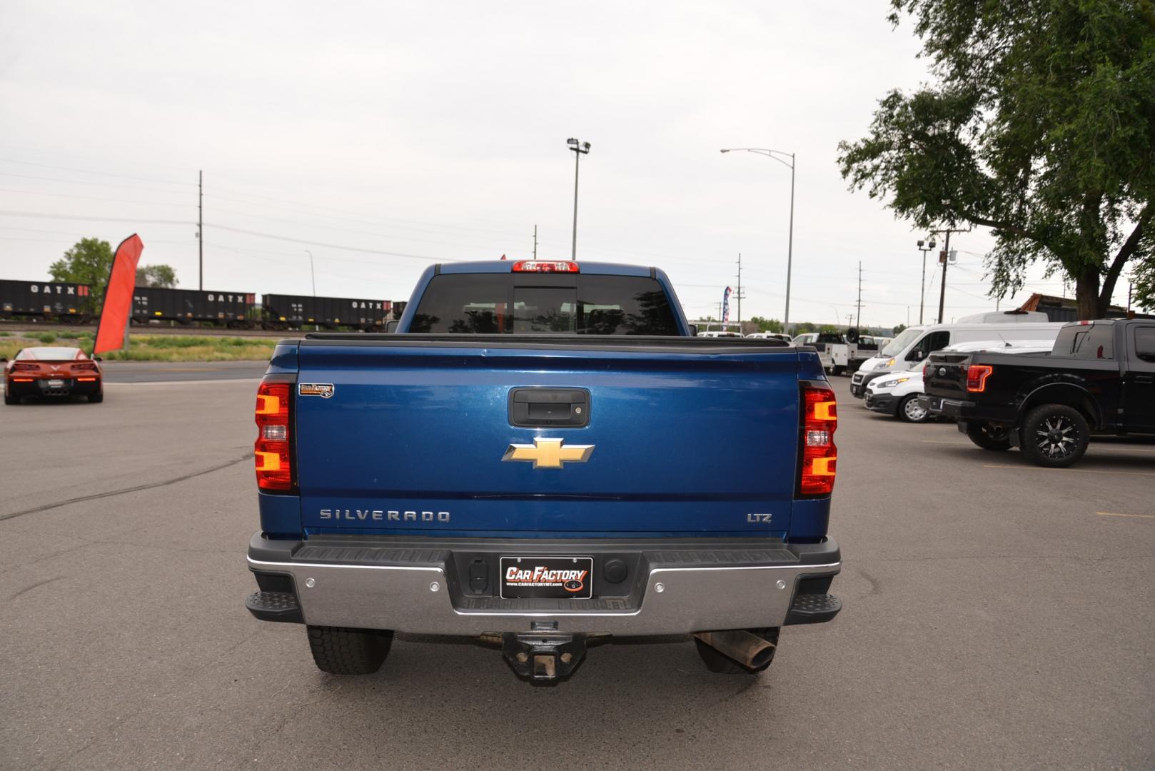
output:
[{"label": "blue Chevrolet Silverado LTZ pickup truck seen from behind", "polygon": [[246,607],[305,624],[325,672],[377,672],[408,632],[541,682],[609,636],[757,673],[841,609],[818,356],[693,336],[655,268],[433,266],[395,333],[281,341],[255,420]]}]

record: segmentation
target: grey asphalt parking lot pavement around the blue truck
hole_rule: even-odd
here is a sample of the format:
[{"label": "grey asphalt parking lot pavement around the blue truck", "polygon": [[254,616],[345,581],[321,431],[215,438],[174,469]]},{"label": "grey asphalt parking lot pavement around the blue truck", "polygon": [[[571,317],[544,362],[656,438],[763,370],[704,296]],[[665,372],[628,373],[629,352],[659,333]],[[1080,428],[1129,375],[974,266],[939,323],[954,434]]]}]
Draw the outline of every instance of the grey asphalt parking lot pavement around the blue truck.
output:
[{"label": "grey asphalt parking lot pavement around the blue truck", "polygon": [[845,608],[765,674],[619,643],[534,688],[400,638],[338,679],[243,606],[253,372],[114,371],[103,405],[0,410],[2,768],[1155,765],[1155,446],[1044,470],[836,378]]}]

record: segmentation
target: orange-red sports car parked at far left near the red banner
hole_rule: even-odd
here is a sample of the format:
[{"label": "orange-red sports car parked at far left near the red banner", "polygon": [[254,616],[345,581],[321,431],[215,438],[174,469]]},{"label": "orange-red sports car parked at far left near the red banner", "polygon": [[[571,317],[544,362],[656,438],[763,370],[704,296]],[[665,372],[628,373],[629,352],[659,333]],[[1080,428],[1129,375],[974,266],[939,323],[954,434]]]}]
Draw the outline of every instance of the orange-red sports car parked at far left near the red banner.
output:
[{"label": "orange-red sports car parked at far left near the red banner", "polygon": [[89,403],[104,401],[99,357],[89,358],[80,348],[45,346],[22,348],[3,369],[3,403],[18,405],[25,398],[59,399],[88,396]]}]

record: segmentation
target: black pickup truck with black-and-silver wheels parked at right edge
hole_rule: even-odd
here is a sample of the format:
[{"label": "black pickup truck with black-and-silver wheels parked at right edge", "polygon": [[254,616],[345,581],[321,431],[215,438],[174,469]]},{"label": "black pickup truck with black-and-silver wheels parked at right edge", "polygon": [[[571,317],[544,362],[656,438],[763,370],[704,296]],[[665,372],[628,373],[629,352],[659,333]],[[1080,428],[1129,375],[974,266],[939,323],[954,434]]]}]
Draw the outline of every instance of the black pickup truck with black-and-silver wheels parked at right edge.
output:
[{"label": "black pickup truck with black-and-silver wheels parked at right edge", "polygon": [[1155,320],[1070,324],[1049,355],[932,354],[923,381],[979,447],[1070,466],[1093,433],[1155,436]]}]

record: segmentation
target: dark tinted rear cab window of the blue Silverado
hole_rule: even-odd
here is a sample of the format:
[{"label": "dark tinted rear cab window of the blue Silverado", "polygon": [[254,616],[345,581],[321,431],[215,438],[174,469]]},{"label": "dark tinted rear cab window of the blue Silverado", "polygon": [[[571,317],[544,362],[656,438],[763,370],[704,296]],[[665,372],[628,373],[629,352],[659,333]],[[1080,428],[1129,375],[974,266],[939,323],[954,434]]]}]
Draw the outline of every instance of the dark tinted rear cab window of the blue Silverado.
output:
[{"label": "dark tinted rear cab window of the blue Silverado", "polygon": [[545,273],[435,275],[422,294],[409,332],[680,334],[670,299],[656,279]]}]

